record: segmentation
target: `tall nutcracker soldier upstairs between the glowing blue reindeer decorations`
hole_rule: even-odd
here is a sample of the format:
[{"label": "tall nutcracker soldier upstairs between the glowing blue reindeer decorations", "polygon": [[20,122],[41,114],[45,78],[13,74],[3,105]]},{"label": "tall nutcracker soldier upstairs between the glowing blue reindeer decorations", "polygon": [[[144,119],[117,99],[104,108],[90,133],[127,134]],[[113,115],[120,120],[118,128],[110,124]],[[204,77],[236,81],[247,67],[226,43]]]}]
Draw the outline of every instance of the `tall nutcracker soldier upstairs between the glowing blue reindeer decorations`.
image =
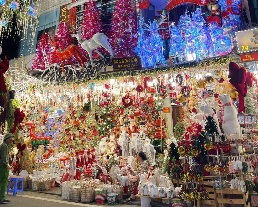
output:
[{"label": "tall nutcracker soldier upstairs between the glowing blue reindeer decorations", "polygon": [[164,47],[163,55],[167,60],[169,58],[168,54],[169,54],[169,43],[170,43],[167,10],[162,9],[161,11],[157,11],[157,13],[161,16],[161,17],[158,17],[159,18],[158,21],[161,21],[161,19],[164,18],[163,19],[164,22],[159,26],[159,27],[163,27],[163,29],[159,29],[159,34],[163,39],[163,47]]}]

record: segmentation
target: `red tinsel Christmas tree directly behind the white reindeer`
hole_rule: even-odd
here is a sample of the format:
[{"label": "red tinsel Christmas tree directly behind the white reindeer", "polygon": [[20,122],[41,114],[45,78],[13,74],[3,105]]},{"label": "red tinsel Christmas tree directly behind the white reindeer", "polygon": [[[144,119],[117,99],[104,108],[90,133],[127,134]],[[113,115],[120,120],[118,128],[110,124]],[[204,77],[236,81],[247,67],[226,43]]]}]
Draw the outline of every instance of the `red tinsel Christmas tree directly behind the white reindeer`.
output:
[{"label": "red tinsel Christmas tree directly behind the white reindeer", "polygon": [[[103,23],[102,20],[99,17],[99,11],[94,3],[94,1],[90,0],[87,3],[87,7],[84,12],[84,18],[82,22],[82,38],[85,40],[89,40],[92,38],[92,36],[98,32],[102,32],[103,30]],[[78,46],[81,54],[86,57],[88,60],[88,53],[81,47],[81,45]],[[102,52],[105,50],[102,47],[99,47]],[[93,51],[92,57],[96,55],[96,52]],[[99,55],[98,55],[99,56]]]}]

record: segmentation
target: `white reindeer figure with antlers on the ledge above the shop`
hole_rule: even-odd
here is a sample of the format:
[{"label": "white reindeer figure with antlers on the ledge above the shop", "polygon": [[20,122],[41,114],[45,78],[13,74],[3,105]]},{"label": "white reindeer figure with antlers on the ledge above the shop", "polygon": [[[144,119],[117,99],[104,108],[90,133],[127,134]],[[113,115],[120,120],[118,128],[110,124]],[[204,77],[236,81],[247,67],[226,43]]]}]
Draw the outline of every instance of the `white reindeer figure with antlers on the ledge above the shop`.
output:
[{"label": "white reindeer figure with antlers on the ledge above the shop", "polygon": [[84,40],[82,38],[82,36],[80,35],[81,32],[82,32],[82,30],[79,29],[78,31],[76,31],[75,34],[71,34],[71,36],[75,37],[78,40],[78,42],[82,45],[82,48],[85,49],[87,51],[87,53],[89,54],[92,68],[93,68],[93,60],[92,60],[92,51],[93,50],[95,50],[96,53],[98,53],[101,57],[104,58],[104,56],[101,54],[101,52],[99,50],[96,50],[96,48],[98,48],[99,46],[102,46],[109,52],[110,58],[114,57],[114,55],[115,55],[114,50],[112,49],[110,43],[108,42],[108,37],[106,35],[99,32],[99,33],[94,34],[91,39]]}]

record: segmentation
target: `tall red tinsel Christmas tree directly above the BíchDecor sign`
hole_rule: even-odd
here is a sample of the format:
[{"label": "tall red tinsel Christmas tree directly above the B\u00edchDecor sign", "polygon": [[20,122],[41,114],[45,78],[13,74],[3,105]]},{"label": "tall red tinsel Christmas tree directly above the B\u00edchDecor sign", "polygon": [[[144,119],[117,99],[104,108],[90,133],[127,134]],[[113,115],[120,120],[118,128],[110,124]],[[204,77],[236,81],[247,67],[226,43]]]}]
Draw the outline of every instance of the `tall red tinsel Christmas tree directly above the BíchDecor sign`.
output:
[{"label": "tall red tinsel Christmas tree directly above the B\u00edchDecor sign", "polygon": [[113,13],[110,38],[115,57],[134,56],[137,47],[137,28],[134,9],[130,0],[118,0]]}]

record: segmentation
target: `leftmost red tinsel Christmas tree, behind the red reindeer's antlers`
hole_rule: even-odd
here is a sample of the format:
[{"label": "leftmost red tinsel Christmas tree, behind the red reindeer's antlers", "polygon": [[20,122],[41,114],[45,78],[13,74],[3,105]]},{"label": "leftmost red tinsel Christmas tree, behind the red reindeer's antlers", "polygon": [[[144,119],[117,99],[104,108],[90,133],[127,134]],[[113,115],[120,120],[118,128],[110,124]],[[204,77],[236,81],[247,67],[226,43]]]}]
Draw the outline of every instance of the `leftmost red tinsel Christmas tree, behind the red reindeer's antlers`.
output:
[{"label": "leftmost red tinsel Christmas tree, behind the red reindeer's antlers", "polygon": [[43,50],[45,49],[46,55],[47,55],[47,57],[49,57],[50,45],[49,45],[49,40],[47,39],[47,36],[45,34],[44,35],[42,34],[38,41],[36,53],[33,57],[31,71],[35,70],[35,69],[45,70],[45,62],[44,62],[44,58],[43,58],[42,49]]}]

